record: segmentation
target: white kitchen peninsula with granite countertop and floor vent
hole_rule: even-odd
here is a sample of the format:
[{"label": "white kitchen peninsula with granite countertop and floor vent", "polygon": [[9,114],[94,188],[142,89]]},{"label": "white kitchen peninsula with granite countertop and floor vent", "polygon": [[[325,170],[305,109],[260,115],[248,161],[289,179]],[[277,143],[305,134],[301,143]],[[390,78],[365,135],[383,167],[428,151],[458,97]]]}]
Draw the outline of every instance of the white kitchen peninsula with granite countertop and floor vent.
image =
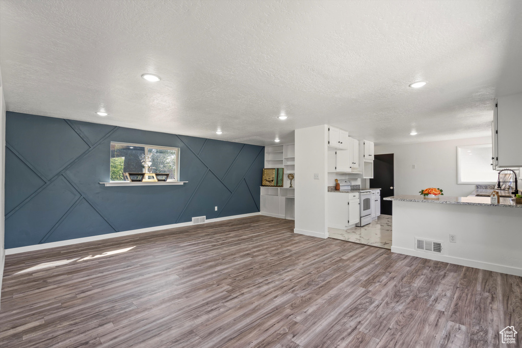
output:
[{"label": "white kitchen peninsula with granite countertop and floor vent", "polygon": [[[392,252],[522,276],[522,204],[480,196],[384,200],[393,201]],[[430,242],[440,252],[422,250]]]}]

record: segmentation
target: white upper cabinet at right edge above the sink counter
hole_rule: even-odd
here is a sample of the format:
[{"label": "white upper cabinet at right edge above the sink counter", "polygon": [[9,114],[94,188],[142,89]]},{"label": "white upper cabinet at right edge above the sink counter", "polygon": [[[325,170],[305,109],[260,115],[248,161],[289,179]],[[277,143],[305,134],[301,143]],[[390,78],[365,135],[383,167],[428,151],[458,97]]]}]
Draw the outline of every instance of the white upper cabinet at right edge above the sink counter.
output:
[{"label": "white upper cabinet at right edge above the sink counter", "polygon": [[522,93],[499,97],[493,114],[493,168],[522,167],[521,129]]}]

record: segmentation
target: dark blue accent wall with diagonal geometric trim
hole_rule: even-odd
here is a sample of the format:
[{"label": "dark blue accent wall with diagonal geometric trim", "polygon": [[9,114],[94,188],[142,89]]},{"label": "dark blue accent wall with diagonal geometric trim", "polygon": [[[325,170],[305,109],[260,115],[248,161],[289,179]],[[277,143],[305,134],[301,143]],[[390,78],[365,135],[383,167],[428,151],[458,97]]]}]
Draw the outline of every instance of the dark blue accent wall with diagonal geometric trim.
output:
[{"label": "dark blue accent wall with diagonal geometric trim", "polygon": [[[188,183],[105,187],[111,141],[179,147]],[[16,112],[6,143],[6,248],[259,211],[263,146]]]}]

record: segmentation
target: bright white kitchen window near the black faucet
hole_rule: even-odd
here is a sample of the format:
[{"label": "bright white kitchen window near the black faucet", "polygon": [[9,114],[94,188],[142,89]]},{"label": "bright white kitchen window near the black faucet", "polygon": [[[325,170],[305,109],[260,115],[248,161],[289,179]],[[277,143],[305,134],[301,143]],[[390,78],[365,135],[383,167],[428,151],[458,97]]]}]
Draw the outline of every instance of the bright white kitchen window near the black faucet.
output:
[{"label": "bright white kitchen window near the black faucet", "polygon": [[496,183],[499,172],[491,166],[491,154],[491,144],[457,146],[457,183]]}]

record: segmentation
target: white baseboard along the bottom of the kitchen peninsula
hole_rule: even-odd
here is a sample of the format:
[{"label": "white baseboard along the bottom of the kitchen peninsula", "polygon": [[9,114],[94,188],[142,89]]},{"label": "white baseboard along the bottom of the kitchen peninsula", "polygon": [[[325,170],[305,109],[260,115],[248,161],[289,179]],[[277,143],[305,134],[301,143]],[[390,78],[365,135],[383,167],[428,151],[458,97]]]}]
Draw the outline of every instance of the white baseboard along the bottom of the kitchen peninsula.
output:
[{"label": "white baseboard along the bottom of the kitchen peninsula", "polygon": [[481,261],[475,261],[475,260],[469,260],[469,259],[461,259],[461,258],[457,258],[454,256],[437,255],[437,254],[432,254],[429,252],[423,252],[423,251],[406,249],[406,248],[398,248],[398,247],[393,247],[393,246],[392,246],[392,252],[395,252],[398,254],[405,254],[405,255],[409,255],[409,256],[417,256],[417,257],[423,258],[423,259],[442,261],[442,262],[447,262],[447,263],[454,263],[454,264],[458,264],[461,266],[478,268],[481,270],[522,276],[522,269],[511,267],[511,266],[504,266],[501,264],[487,263],[487,262],[481,262]]}]

